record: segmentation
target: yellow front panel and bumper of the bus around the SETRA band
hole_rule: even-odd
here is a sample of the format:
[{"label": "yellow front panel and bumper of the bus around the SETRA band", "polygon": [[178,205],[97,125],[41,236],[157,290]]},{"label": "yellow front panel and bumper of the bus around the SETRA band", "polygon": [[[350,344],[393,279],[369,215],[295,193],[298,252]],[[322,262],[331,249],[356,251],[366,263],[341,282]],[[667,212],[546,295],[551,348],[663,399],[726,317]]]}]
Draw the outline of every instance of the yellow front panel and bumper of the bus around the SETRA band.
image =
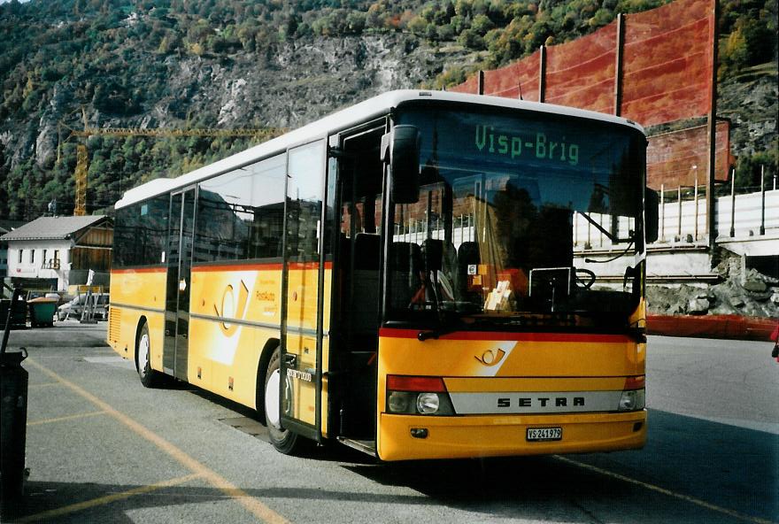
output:
[{"label": "yellow front panel and bumper of the bus around the SETRA band", "polygon": [[[646,411],[485,414],[454,417],[386,412],[389,374],[443,377],[451,393],[621,391],[644,374],[645,346],[621,335],[480,333],[417,340],[382,329],[378,454],[384,460],[443,459],[633,449],[644,446]],[[460,338],[458,340],[458,337]],[[516,340],[520,339],[520,340]],[[527,442],[527,428],[562,428],[559,442]],[[427,429],[416,438],[412,429]]]}]

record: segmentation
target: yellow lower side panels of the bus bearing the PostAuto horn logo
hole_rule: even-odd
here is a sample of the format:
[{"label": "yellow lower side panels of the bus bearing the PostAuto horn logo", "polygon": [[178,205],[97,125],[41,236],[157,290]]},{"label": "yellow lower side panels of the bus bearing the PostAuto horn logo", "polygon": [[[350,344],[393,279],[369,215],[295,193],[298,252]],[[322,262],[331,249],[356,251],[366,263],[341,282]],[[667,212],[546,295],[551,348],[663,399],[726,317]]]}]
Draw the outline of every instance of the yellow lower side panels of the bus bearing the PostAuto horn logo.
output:
[{"label": "yellow lower side panels of the bus bearing the PostAuto horn logo", "polygon": [[[326,268],[329,295],[331,271]],[[316,368],[318,265],[290,267],[287,352],[305,368]],[[124,358],[135,360],[143,320],[149,324],[151,368],[165,372],[166,268],[114,270],[115,291],[108,342]],[[267,343],[281,336],[282,265],[208,265],[192,268],[189,305],[189,383],[257,409],[258,362]],[[328,319],[328,305],[324,306]],[[327,332],[328,326],[324,326]],[[328,338],[322,341],[327,372]],[[313,382],[296,381],[294,415],[314,425]],[[263,387],[263,385],[259,385]],[[327,435],[327,377],[323,380],[322,432]]]}]

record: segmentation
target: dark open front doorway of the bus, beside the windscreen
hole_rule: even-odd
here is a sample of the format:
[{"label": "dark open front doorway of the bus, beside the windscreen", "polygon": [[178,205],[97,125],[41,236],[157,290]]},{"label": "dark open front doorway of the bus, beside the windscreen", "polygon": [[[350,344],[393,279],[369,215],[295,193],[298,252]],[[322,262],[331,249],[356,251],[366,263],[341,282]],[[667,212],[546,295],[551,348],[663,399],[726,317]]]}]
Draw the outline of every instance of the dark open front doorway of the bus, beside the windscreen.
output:
[{"label": "dark open front doorway of the bus, beside the windscreen", "polygon": [[379,119],[338,137],[335,216],[330,219],[338,231],[331,363],[340,377],[331,388],[337,396],[331,410],[339,440],[370,454],[375,454],[376,435],[384,244],[380,148],[386,125]]}]

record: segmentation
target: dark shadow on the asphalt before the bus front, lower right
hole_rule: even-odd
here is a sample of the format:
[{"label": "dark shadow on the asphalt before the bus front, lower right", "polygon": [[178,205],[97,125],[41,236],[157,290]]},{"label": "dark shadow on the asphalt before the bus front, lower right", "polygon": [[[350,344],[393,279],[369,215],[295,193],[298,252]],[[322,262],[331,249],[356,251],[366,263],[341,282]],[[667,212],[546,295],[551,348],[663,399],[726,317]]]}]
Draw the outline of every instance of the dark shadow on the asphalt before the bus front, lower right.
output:
[{"label": "dark shadow on the asphalt before the bus front, lower right", "polygon": [[[651,410],[644,450],[566,457],[615,475],[554,457],[344,467],[374,482],[417,489],[438,503],[463,510],[478,511],[482,505],[495,510],[496,503],[512,502],[500,513],[504,517],[549,519],[550,514],[537,514],[534,508],[550,503],[584,512],[604,508],[610,519],[613,508],[623,506],[623,520],[617,520],[622,522],[743,521],[727,511],[748,519],[773,521],[779,516],[779,437],[770,433]],[[656,503],[648,502],[652,499]]]}]

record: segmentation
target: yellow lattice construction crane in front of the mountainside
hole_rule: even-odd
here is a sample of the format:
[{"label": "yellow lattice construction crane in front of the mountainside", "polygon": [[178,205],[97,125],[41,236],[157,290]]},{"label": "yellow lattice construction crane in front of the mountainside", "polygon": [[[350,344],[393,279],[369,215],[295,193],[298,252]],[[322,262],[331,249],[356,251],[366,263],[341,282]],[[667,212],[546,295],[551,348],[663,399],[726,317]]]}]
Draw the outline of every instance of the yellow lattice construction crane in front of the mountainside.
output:
[{"label": "yellow lattice construction crane in front of the mountainside", "polygon": [[[72,113],[71,113],[72,114]],[[258,140],[267,140],[274,138],[274,136],[282,135],[285,130],[275,127],[262,127],[262,128],[236,128],[236,129],[220,129],[220,128],[192,128],[192,129],[180,129],[176,127],[89,127],[87,122],[87,113],[84,108],[81,108],[81,116],[83,120],[83,129],[73,129],[65,124],[61,126],[66,127],[70,131],[70,135],[67,136],[65,142],[70,140],[72,136],[77,138],[87,138],[92,135],[110,135],[110,136],[252,136]],[[62,141],[60,141],[61,143]],[[59,153],[59,147],[58,147]],[[59,154],[58,154],[59,159]],[[87,152],[87,146],[83,143],[76,145],[76,169],[75,169],[75,181],[76,181],[76,195],[75,195],[75,207],[73,208],[73,216],[84,216],[87,214],[87,171],[89,168],[89,154]]]}]

